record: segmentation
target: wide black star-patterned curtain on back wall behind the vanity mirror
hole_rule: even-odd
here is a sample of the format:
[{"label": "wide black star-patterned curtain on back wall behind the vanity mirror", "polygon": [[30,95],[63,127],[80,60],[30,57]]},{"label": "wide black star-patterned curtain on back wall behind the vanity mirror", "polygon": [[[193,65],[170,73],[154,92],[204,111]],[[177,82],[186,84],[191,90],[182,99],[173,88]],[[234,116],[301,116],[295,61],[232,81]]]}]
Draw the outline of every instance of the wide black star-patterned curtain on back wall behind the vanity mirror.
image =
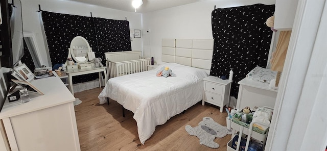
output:
[{"label": "wide black star-patterned curtain on back wall behind the vanity mirror", "polygon": [[[106,52],[131,51],[129,22],[42,11],[51,64],[63,64],[68,48],[76,36],[84,37],[96,57],[105,64]],[[99,21],[101,20],[101,21]],[[73,84],[96,80],[98,73],[73,77]]]}]

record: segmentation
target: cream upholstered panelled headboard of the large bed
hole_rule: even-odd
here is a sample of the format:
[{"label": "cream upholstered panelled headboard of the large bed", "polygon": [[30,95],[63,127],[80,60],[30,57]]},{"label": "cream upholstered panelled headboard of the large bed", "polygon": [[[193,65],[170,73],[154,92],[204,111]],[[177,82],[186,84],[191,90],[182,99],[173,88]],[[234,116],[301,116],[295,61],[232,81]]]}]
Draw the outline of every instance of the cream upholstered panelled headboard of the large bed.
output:
[{"label": "cream upholstered panelled headboard of the large bed", "polygon": [[211,69],[213,39],[162,39],[161,61]]}]

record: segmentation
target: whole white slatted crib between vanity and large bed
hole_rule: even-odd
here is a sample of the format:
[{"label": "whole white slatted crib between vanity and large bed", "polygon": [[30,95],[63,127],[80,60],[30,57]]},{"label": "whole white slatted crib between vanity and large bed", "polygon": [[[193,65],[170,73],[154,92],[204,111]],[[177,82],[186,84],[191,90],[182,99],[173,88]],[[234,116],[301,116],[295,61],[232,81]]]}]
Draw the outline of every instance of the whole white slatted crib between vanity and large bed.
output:
[{"label": "whole white slatted crib between vanity and large bed", "polygon": [[147,71],[151,58],[142,57],[141,51],[105,53],[108,79]]}]

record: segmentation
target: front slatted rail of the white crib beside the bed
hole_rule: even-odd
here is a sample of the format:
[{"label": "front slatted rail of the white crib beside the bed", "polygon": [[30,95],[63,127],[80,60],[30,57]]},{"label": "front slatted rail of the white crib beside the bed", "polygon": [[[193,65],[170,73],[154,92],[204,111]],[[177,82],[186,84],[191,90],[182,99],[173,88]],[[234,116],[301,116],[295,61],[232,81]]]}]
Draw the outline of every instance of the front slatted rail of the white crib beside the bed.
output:
[{"label": "front slatted rail of the white crib beside the bed", "polygon": [[143,72],[148,70],[148,65],[150,65],[151,58],[141,57],[138,60],[113,62],[106,60],[108,78],[119,77],[126,74],[132,74],[137,72]]}]

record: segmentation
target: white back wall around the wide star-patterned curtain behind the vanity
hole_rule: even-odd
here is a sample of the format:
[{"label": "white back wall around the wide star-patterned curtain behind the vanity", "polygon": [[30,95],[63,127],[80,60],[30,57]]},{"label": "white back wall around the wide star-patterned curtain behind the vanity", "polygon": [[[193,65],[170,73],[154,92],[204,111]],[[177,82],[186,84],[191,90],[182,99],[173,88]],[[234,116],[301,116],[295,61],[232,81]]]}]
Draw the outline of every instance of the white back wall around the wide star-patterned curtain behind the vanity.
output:
[{"label": "white back wall around the wide star-patterned curtain behind the vanity", "polygon": [[[39,10],[38,5],[41,6],[41,10],[55,12],[55,13],[65,13],[74,14],[81,16],[90,16],[92,12],[93,17],[101,17],[107,19],[116,20],[127,20],[129,21],[129,26],[131,31],[133,29],[141,29],[141,14],[131,13],[125,11],[119,11],[114,9],[108,9],[99,6],[87,5],[83,3],[76,3],[71,1],[54,1],[54,0],[21,0],[22,3],[22,15],[23,15],[23,28],[24,32],[30,32],[36,34],[36,39],[38,46],[40,48],[40,54],[44,58],[43,64],[46,66],[51,66],[50,61],[45,59],[47,54],[45,52],[45,44],[42,37],[41,24],[39,20]],[[131,32],[132,33],[132,32]],[[133,35],[131,35],[133,37]],[[132,50],[141,50],[142,39],[132,38]],[[68,48],[67,48],[68,51]]]}]

